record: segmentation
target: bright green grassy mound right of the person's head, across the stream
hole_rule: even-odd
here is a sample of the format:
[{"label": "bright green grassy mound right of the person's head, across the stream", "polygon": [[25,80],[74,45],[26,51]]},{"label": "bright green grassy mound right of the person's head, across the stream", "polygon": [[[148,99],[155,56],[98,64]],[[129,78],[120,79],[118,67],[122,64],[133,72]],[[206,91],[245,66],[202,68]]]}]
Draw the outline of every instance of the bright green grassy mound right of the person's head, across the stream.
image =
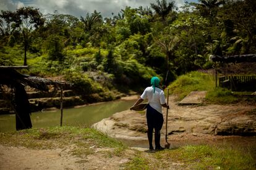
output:
[{"label": "bright green grassy mound right of the person's head, across the stream", "polygon": [[177,95],[178,100],[181,100],[191,91],[211,91],[215,89],[215,81],[213,75],[192,71],[179,76],[168,87],[171,94]]}]

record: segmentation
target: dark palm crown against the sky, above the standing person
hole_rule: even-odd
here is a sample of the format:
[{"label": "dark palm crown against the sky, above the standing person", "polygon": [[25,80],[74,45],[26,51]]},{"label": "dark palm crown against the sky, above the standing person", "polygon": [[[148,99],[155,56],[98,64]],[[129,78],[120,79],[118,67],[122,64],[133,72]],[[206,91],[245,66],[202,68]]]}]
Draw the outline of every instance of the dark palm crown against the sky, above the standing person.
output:
[{"label": "dark palm crown against the sky, above the standing person", "polygon": [[156,0],[157,4],[150,4],[151,7],[155,10],[156,14],[160,15],[162,20],[164,21],[166,16],[171,12],[174,8],[173,2],[166,2],[166,0]]}]

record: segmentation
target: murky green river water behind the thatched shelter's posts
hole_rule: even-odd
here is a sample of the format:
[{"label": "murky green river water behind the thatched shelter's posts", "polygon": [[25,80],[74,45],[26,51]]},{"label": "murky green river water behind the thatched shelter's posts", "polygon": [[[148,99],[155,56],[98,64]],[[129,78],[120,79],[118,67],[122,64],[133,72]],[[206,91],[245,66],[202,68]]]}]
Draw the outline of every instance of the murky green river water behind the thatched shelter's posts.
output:
[{"label": "murky green river water behind the thatched shelter's posts", "polygon": [[[90,126],[93,123],[119,111],[127,110],[135,100],[115,100],[79,108],[66,108],[63,111],[64,126]],[[31,115],[33,127],[59,126],[61,111],[38,111]],[[0,132],[15,131],[15,115],[0,115]]]}]

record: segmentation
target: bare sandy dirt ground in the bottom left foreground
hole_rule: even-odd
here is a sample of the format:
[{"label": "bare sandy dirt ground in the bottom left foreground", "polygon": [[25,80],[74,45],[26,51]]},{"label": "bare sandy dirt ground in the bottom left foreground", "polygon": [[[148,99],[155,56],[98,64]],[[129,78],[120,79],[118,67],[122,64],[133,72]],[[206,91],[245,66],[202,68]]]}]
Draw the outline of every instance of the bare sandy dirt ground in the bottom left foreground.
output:
[{"label": "bare sandy dirt ground in the bottom left foreground", "polygon": [[127,150],[127,155],[106,156],[111,150],[95,148],[93,154],[74,156],[69,149],[36,150],[0,145],[0,169],[119,169],[129,161],[127,155],[134,154],[134,150]]}]

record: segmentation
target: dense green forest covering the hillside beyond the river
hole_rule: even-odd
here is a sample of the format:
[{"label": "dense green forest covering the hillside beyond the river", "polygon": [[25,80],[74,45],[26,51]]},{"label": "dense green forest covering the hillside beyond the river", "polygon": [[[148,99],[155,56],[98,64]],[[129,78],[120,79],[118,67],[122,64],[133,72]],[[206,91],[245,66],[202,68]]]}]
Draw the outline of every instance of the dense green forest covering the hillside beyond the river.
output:
[{"label": "dense green forest covering the hillside beyond the river", "polygon": [[212,68],[210,54],[255,54],[255,3],[200,0],[176,9],[174,2],[158,0],[111,18],[96,10],[80,18],[42,15],[33,7],[1,11],[0,65],[64,75],[85,95],[136,90],[155,75],[168,85],[179,75]]}]

